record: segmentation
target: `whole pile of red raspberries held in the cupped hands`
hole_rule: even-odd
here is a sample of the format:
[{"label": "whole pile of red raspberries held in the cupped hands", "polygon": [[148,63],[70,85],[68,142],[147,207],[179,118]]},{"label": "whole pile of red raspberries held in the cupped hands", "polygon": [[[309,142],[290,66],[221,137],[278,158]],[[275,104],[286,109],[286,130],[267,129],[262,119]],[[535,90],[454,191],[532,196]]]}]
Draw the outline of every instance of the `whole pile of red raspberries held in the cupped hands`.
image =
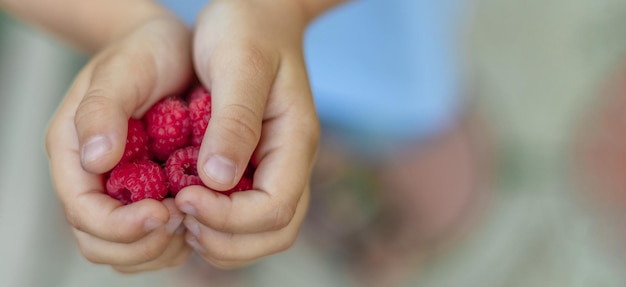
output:
[{"label": "whole pile of red raspberries held in the cupped hands", "polygon": [[[128,120],[124,155],[105,174],[106,192],[124,204],[175,197],[186,186],[202,185],[196,163],[211,118],[211,94],[194,86],[183,96],[162,99],[142,119]],[[251,164],[239,183],[220,191],[252,189]]]}]

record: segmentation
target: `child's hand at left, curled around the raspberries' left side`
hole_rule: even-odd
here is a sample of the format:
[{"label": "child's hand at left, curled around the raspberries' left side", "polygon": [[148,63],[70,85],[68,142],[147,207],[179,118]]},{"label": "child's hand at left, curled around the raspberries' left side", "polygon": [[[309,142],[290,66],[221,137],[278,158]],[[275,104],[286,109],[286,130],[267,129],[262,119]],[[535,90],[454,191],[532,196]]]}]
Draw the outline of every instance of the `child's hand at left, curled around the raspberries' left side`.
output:
[{"label": "child's hand at left, curled around the raspberries' left side", "polygon": [[[50,124],[51,173],[83,255],[122,272],[182,264],[190,254],[183,214],[172,199],[124,206],[100,174],[120,160],[128,118],[184,89],[192,76],[191,32],[156,17],[96,55],[80,72]],[[178,229],[179,231],[181,229]]]}]

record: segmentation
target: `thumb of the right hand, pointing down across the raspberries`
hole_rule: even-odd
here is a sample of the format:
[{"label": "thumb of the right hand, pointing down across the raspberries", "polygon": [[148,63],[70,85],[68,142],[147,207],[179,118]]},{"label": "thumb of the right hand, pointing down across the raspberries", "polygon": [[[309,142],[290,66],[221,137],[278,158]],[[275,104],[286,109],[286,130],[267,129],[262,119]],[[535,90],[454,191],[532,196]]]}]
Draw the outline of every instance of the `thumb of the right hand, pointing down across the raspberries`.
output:
[{"label": "thumb of the right hand, pointing down across the raspberries", "polygon": [[207,186],[228,190],[241,178],[261,136],[278,57],[259,45],[208,49],[203,42],[196,43],[196,70],[212,93],[211,120],[198,156],[199,175]]}]

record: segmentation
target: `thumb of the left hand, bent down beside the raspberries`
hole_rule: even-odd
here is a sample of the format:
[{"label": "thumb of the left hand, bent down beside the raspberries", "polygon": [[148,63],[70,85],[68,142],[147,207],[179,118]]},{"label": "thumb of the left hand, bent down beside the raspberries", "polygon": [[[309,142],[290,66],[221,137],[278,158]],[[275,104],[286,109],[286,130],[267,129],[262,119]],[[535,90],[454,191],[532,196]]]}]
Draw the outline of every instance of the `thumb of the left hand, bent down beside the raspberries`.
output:
[{"label": "thumb of the left hand, bent down beside the raspberries", "polygon": [[128,118],[139,117],[159,98],[187,84],[191,61],[186,44],[172,49],[153,46],[171,46],[166,43],[176,40],[157,37],[153,42],[132,42],[135,45],[114,49],[96,60],[74,118],[85,170],[110,170],[122,157]]}]

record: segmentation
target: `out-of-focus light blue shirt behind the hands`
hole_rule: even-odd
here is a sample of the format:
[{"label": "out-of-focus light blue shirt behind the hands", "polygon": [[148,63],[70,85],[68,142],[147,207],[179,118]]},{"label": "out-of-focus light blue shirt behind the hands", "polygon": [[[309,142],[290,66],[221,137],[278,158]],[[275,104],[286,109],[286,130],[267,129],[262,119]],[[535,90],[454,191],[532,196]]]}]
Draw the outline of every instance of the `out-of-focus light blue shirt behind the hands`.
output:
[{"label": "out-of-focus light blue shirt behind the hands", "polygon": [[[208,1],[161,2],[193,25]],[[351,1],[314,21],[305,57],[322,123],[377,146],[449,127],[462,106],[463,2]]]}]

